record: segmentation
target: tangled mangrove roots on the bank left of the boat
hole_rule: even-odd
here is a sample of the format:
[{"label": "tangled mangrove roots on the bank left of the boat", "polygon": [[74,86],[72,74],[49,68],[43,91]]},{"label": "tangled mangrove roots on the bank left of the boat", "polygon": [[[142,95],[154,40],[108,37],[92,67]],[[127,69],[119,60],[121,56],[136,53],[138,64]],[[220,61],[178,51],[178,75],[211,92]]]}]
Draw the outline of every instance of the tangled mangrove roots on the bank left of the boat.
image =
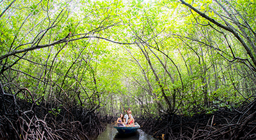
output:
[{"label": "tangled mangrove roots on the bank left of the boat", "polygon": [[[88,139],[88,135],[97,135],[105,129],[94,111],[77,108],[76,105],[56,109],[57,105],[44,100],[38,103],[27,88],[16,94],[6,94],[3,86],[0,87],[0,137]],[[17,99],[20,93],[26,94],[26,99]]]}]

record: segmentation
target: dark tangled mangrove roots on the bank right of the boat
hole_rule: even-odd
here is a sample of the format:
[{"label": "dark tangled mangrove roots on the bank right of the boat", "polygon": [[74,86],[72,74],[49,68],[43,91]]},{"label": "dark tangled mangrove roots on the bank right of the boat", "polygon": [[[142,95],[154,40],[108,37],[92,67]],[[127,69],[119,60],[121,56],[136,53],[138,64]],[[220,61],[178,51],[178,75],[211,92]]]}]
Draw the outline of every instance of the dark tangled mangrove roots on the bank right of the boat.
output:
[{"label": "dark tangled mangrove roots on the bank right of the boat", "polygon": [[237,109],[222,108],[192,117],[175,114],[137,119],[148,134],[164,139],[256,139],[256,100]]}]

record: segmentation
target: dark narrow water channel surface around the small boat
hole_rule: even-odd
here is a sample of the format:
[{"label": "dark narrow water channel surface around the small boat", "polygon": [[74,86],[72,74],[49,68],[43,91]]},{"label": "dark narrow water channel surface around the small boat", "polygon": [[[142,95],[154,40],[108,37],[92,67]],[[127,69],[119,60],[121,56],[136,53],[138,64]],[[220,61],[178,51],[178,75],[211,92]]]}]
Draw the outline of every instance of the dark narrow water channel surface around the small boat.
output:
[{"label": "dark narrow water channel surface around the small boat", "polygon": [[143,130],[138,129],[134,134],[119,134],[114,125],[107,124],[106,130],[99,134],[98,137],[90,138],[90,140],[156,140],[154,137],[146,134]]}]

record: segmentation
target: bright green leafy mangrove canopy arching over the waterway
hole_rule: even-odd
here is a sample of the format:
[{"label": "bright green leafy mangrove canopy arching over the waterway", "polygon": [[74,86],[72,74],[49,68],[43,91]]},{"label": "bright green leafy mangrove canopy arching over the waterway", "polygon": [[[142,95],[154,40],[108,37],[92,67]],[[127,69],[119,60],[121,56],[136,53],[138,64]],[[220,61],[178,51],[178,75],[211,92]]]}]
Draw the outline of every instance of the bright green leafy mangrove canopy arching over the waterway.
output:
[{"label": "bright green leafy mangrove canopy arching over the waterway", "polygon": [[255,97],[255,6],[0,1],[0,81],[12,94],[28,88],[38,102],[103,115],[123,106],[136,116],[232,108]]}]

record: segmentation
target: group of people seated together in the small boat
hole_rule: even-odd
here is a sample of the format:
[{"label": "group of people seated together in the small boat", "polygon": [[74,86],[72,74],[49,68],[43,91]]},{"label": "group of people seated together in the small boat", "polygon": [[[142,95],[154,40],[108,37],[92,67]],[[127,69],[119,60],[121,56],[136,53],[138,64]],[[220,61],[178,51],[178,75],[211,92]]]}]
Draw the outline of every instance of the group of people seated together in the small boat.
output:
[{"label": "group of people seated together in the small boat", "polygon": [[125,115],[121,113],[120,118],[117,118],[116,123],[118,127],[134,127],[134,118],[132,117],[131,109],[129,108],[126,110]]}]

